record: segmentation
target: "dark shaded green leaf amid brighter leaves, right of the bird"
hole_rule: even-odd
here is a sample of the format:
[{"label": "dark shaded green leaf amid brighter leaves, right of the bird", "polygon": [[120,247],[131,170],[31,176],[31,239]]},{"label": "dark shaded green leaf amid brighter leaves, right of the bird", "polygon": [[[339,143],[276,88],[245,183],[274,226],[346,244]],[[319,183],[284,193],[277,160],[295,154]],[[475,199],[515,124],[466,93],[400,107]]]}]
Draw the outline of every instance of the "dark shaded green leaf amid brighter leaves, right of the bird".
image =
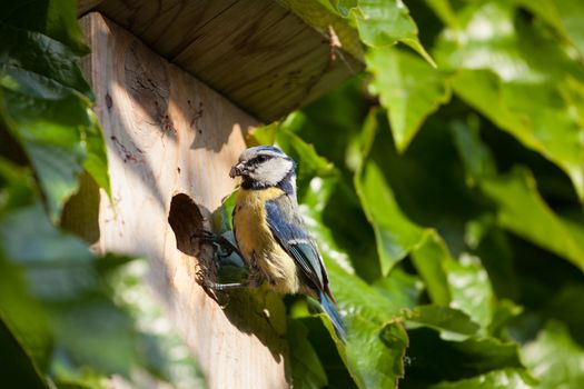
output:
[{"label": "dark shaded green leaf amid brighter leaves, right of the bird", "polygon": [[390,142],[386,118],[378,117],[372,158],[382,167],[402,211],[417,225],[436,229],[458,255],[466,249],[466,220],[484,213],[489,205],[465,186],[447,121],[441,117],[432,117],[402,156]]}]

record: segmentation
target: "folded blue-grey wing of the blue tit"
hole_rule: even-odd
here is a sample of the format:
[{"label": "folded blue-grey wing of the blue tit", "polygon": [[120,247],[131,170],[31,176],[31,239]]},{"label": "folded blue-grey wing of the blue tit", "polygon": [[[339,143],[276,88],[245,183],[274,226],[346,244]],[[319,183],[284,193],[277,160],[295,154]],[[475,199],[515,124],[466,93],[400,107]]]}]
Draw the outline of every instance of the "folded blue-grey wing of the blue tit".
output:
[{"label": "folded blue-grey wing of the blue tit", "polygon": [[328,278],[316,245],[304,228],[298,206],[284,194],[266,201],[266,218],[271,233],[319,291],[328,291]]}]

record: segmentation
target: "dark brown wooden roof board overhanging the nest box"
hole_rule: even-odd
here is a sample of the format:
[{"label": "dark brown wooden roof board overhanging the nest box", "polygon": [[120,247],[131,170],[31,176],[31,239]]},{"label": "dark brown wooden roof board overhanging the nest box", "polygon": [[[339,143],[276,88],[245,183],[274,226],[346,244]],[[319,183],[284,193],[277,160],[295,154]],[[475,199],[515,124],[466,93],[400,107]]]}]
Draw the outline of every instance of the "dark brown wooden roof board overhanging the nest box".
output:
[{"label": "dark brown wooden roof board overhanging the nest box", "polygon": [[[299,0],[102,0],[95,8],[264,121],[363,69],[356,32]],[[306,23],[314,14],[327,26]],[[329,30],[343,48],[331,46]]]}]

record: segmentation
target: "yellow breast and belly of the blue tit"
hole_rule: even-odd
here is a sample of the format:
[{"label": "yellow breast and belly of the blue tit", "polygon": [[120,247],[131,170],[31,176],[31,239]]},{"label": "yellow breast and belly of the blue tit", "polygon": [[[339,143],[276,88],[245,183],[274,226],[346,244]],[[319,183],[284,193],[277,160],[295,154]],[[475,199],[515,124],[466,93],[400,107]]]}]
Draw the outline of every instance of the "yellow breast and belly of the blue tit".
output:
[{"label": "yellow breast and belly of the blue tit", "polygon": [[283,194],[284,191],[278,188],[240,189],[234,227],[237,245],[246,262],[261,271],[266,281],[277,291],[296,293],[300,287],[296,263],[274,239],[266,221],[266,201]]}]

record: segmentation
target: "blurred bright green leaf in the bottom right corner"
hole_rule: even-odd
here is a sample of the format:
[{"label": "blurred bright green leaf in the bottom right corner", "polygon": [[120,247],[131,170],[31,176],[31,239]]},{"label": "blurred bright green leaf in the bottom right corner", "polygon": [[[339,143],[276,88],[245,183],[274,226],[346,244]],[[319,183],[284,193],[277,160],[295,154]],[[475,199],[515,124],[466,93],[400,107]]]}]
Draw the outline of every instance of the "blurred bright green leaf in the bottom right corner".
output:
[{"label": "blurred bright green leaf in the bottom right corner", "polygon": [[536,388],[584,386],[584,349],[572,340],[566,327],[558,321],[548,321],[537,339],[523,348],[522,358],[541,380]]}]

